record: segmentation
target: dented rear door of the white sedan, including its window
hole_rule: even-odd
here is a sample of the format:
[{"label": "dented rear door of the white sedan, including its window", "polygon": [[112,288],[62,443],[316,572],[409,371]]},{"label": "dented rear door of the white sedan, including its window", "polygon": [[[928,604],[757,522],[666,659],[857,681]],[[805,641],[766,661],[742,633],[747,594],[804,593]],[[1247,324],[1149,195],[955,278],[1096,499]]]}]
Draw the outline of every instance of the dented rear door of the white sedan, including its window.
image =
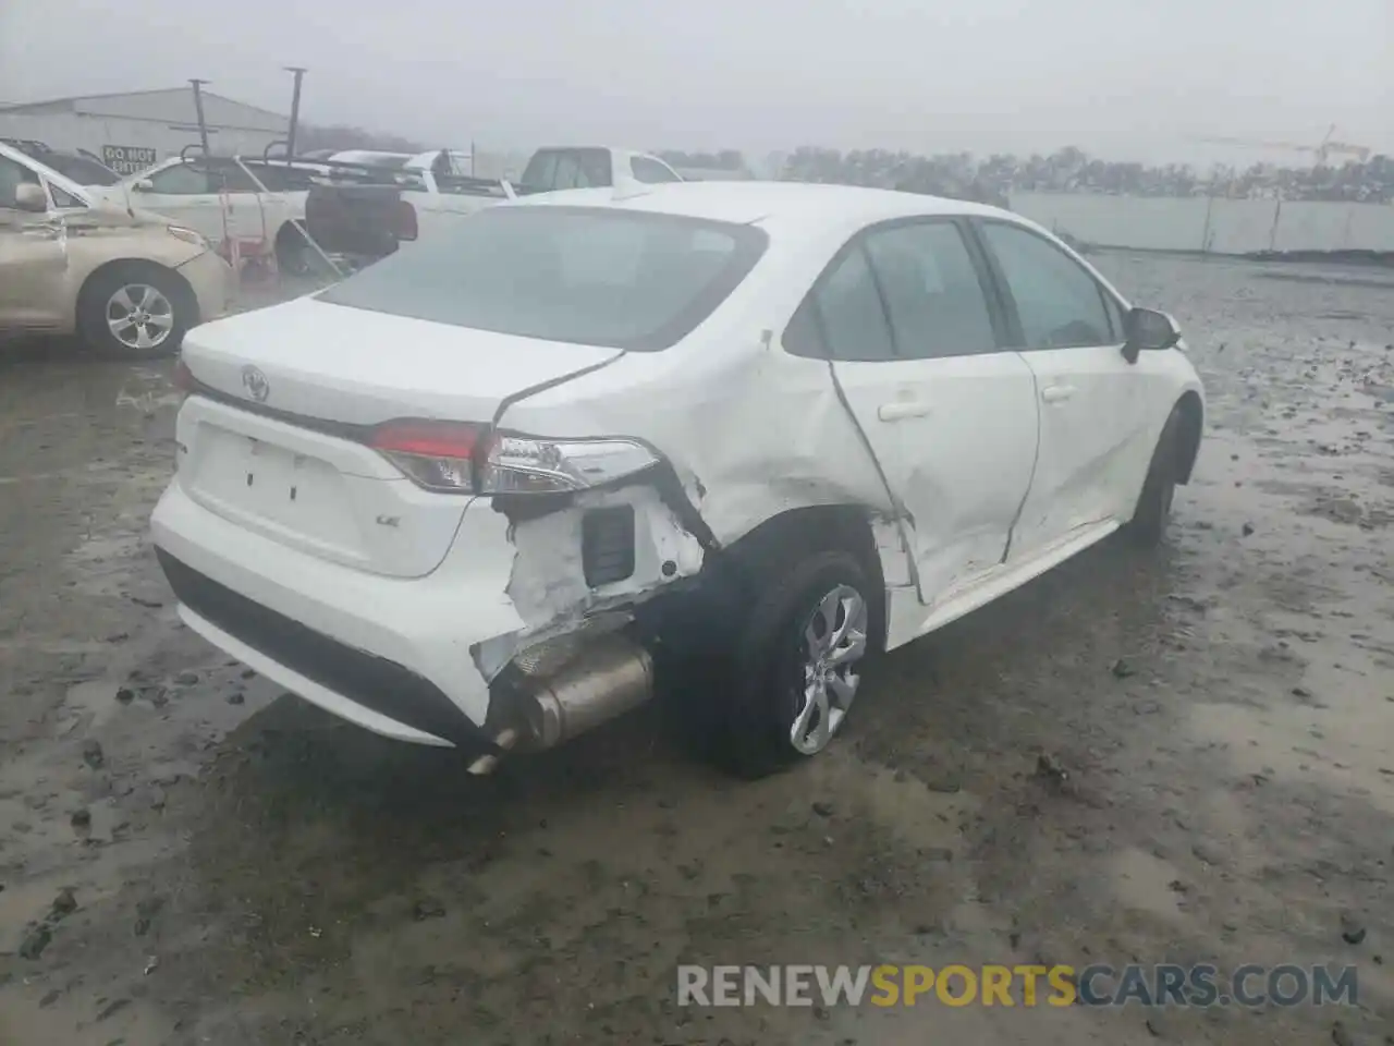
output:
[{"label": "dented rear door of the white sedan, including its window", "polygon": [[825,353],[909,513],[920,598],[1001,563],[1030,485],[1036,392],[1004,347],[981,257],[951,219],[873,226],[834,259],[789,340]]}]

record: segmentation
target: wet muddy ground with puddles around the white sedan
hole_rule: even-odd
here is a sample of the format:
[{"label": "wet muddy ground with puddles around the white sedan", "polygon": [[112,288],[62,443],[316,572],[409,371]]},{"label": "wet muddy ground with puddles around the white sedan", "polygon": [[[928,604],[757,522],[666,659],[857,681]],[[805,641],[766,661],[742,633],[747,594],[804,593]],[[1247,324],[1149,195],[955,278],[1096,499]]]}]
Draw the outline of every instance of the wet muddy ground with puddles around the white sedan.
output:
[{"label": "wet muddy ground with puddles around the white sedan", "polygon": [[[282,697],[151,555],[167,367],[10,353],[0,1043],[1394,1042],[1394,275],[1098,261],[1210,392],[1167,547],[898,651],[758,784],[654,714],[475,780]],[[866,961],[1354,962],[1359,1006],[675,1006]]]}]

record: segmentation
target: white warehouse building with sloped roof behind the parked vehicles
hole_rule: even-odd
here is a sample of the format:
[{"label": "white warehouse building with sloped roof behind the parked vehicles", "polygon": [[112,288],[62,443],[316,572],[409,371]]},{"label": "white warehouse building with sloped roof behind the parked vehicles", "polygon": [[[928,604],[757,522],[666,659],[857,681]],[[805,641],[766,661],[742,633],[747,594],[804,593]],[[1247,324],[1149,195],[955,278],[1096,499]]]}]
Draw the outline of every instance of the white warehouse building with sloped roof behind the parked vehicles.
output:
[{"label": "white warehouse building with sloped roof behind the parked vehicles", "polygon": [[[216,155],[259,155],[284,141],[290,117],[202,92],[208,146]],[[40,141],[54,149],[85,149],[128,174],[197,145],[192,86],[84,95],[0,106],[0,138]]]}]

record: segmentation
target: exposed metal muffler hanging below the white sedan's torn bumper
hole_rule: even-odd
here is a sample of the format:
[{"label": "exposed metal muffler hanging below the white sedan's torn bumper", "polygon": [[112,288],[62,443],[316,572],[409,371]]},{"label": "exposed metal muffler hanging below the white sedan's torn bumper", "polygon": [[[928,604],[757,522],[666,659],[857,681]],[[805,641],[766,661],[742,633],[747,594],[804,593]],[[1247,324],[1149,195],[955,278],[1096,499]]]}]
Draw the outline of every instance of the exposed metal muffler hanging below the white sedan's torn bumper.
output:
[{"label": "exposed metal muffler hanging below the white sedan's torn bumper", "polygon": [[560,745],[652,696],[648,651],[619,632],[601,636],[555,674],[523,683],[517,702],[527,748]]}]

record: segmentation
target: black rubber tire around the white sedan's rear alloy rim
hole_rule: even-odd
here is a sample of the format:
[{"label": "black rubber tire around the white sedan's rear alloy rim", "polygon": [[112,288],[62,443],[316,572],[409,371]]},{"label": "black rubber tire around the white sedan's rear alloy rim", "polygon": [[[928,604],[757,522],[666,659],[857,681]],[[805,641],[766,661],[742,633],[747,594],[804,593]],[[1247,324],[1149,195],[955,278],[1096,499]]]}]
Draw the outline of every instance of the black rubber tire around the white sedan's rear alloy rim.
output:
[{"label": "black rubber tire around the white sedan's rear alloy rim", "polygon": [[[846,708],[841,708],[842,715],[829,717],[827,741],[817,750],[800,750],[790,738],[804,704],[806,626],[820,601],[841,590],[861,600],[864,653],[850,665],[860,676],[880,649],[884,600],[857,556],[842,551],[809,554],[753,594],[735,637],[728,685],[722,688],[725,715],[718,757],[728,770],[742,777],[763,777],[811,759],[841,732]],[[859,689],[860,685],[855,688]],[[813,721],[818,721],[817,714]]]}]

